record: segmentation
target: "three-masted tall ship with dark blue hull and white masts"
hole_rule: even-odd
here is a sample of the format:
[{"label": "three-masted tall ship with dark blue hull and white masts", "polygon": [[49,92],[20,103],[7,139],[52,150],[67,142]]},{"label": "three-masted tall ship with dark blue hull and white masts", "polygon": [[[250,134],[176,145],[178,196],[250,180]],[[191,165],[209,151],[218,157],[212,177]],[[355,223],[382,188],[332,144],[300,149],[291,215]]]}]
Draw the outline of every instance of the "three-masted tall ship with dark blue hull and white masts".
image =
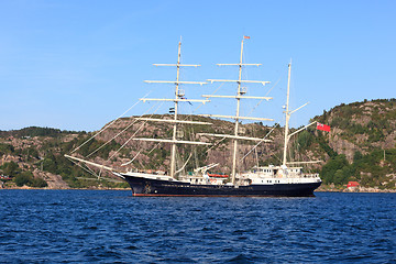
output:
[{"label": "three-masted tall ship with dark blue hull and white masts", "polygon": [[[284,150],[283,162],[279,165],[270,166],[255,166],[246,172],[238,172],[238,148],[240,141],[254,141],[257,142],[255,146],[261,143],[270,142],[264,138],[250,138],[240,135],[240,122],[242,120],[255,120],[255,121],[272,121],[267,118],[253,118],[241,117],[240,107],[241,100],[271,100],[271,97],[253,97],[246,96],[246,90],[243,87],[245,84],[258,84],[266,85],[270,81],[262,80],[245,80],[242,79],[242,68],[246,66],[260,66],[261,64],[245,64],[243,63],[243,45],[244,40],[249,38],[244,36],[241,42],[240,62],[237,64],[218,64],[219,66],[237,66],[239,68],[239,75],[237,79],[208,79],[210,82],[234,82],[237,84],[237,94],[234,96],[223,95],[204,95],[205,99],[187,99],[180,85],[204,85],[205,81],[184,81],[180,80],[182,67],[198,67],[200,65],[182,64],[180,63],[180,47],[182,41],[178,43],[178,55],[176,64],[154,64],[155,66],[176,67],[176,80],[146,80],[145,82],[152,84],[174,84],[175,85],[175,98],[142,98],[142,101],[170,101],[173,102],[172,113],[173,119],[154,119],[154,118],[138,118],[144,122],[166,122],[172,123],[172,139],[147,139],[147,138],[133,138],[135,141],[148,141],[158,142],[164,144],[170,144],[170,164],[168,172],[161,172],[156,169],[152,170],[138,170],[130,169],[121,172],[109,166],[100,165],[76,155],[65,155],[75,162],[81,162],[86,165],[91,165],[100,169],[110,170],[113,175],[125,180],[131,189],[133,196],[239,196],[239,197],[309,197],[314,196],[314,190],[321,185],[319,174],[306,174],[302,170],[302,166],[296,166],[302,164],[302,162],[287,162],[287,147],[290,136],[302,131],[309,125],[315,124],[312,122],[302,129],[299,129],[293,133],[289,133],[289,119],[293,112],[300,108],[290,111],[289,110],[289,86],[290,86],[290,70],[292,62],[288,64],[288,81],[287,81],[287,100],[285,107],[285,131],[284,131]],[[210,134],[200,133],[204,138],[221,138],[232,140],[232,169],[230,176],[222,174],[210,174],[209,169],[218,166],[219,164],[209,164],[204,167],[198,167],[190,173],[184,173],[183,168],[176,168],[176,153],[179,144],[187,145],[210,145],[205,141],[187,141],[180,140],[177,135],[179,125],[188,124],[201,124],[211,125],[209,122],[189,121],[180,118],[179,103],[180,102],[209,102],[210,98],[220,99],[234,99],[237,100],[235,116],[220,116],[220,114],[200,114],[202,117],[232,119],[234,120],[234,133],[233,134]],[[316,163],[305,162],[305,163]]]}]

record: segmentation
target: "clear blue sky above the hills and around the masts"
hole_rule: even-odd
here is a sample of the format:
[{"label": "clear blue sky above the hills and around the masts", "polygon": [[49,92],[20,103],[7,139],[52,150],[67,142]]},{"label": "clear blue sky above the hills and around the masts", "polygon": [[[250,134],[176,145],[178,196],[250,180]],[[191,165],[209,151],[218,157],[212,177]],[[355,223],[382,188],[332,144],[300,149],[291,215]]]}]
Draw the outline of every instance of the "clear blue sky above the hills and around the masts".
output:
[{"label": "clear blue sky above the hills and around the masts", "polygon": [[[0,1],[0,130],[48,127],[95,131],[127,116],[165,113],[182,38],[182,80],[235,79],[243,35],[248,95],[241,114],[284,122],[292,59],[292,127],[340,103],[395,98],[396,1]],[[235,85],[184,86],[186,97],[235,95]],[[258,106],[257,106],[258,103]],[[193,105],[193,106],[191,106]],[[233,116],[234,100],[180,103],[185,113]],[[264,122],[272,125],[274,122]]]}]

